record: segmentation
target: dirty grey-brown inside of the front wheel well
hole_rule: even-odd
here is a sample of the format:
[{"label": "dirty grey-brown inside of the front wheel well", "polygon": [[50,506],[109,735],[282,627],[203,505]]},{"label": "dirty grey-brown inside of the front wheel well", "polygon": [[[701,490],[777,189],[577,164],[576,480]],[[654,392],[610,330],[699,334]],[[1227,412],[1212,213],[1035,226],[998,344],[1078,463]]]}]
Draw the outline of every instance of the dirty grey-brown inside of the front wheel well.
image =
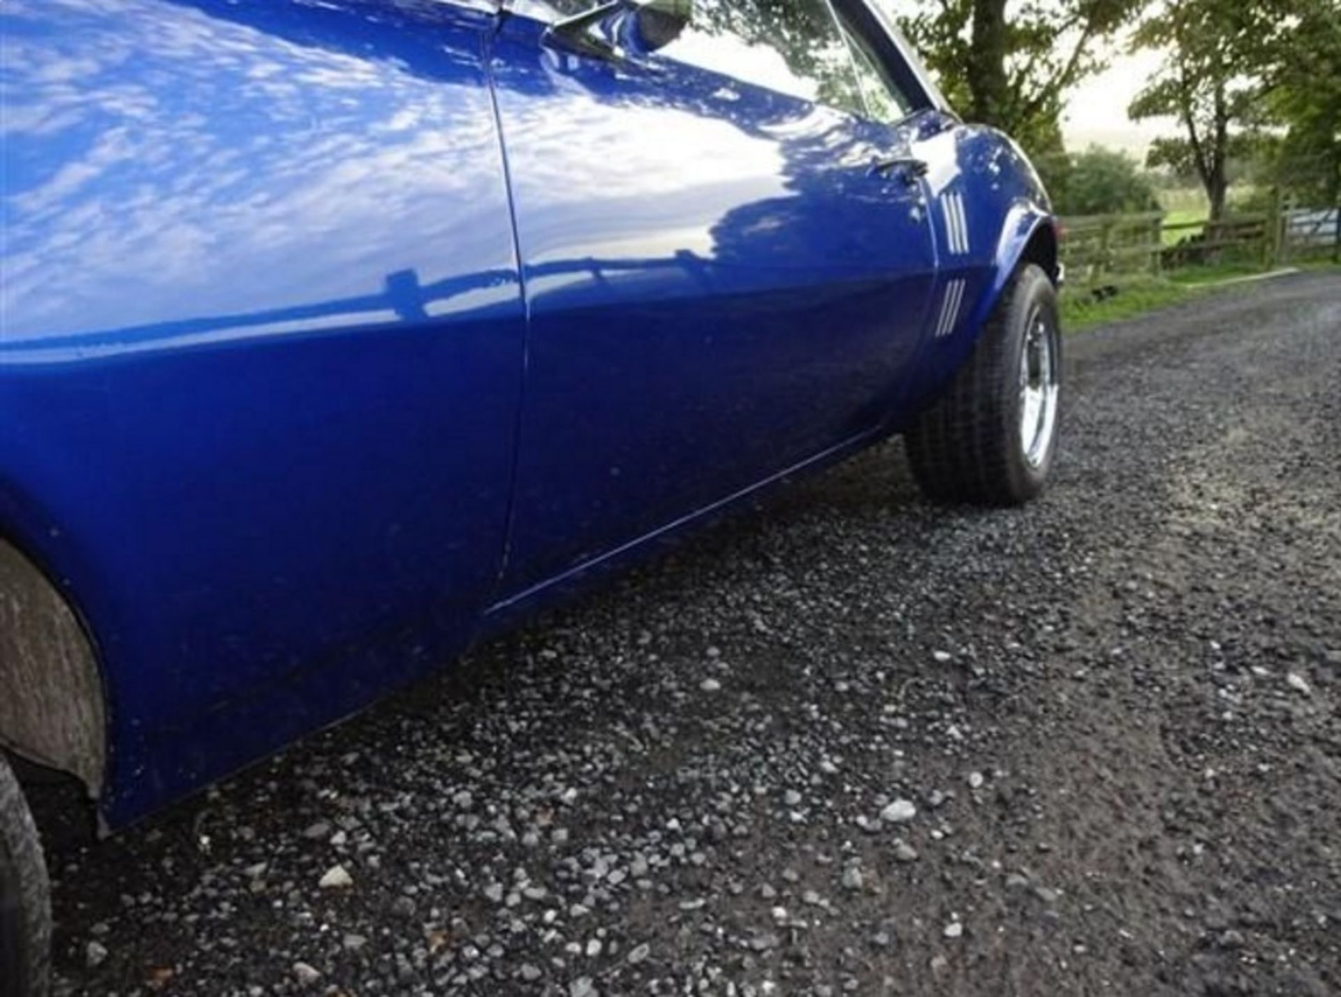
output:
[{"label": "dirty grey-brown inside of the front wheel well", "polygon": [[47,576],[0,537],[0,746],[102,792],[107,712],[93,642]]}]

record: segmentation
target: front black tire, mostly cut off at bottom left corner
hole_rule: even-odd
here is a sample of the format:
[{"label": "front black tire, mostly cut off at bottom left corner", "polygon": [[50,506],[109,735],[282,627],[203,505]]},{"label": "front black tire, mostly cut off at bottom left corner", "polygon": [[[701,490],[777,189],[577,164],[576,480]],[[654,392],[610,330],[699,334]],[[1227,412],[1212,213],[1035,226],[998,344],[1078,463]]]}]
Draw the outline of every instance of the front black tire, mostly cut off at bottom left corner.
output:
[{"label": "front black tire, mostly cut off at bottom left corner", "polygon": [[0,753],[0,997],[46,997],[50,959],[47,864],[23,791]]}]

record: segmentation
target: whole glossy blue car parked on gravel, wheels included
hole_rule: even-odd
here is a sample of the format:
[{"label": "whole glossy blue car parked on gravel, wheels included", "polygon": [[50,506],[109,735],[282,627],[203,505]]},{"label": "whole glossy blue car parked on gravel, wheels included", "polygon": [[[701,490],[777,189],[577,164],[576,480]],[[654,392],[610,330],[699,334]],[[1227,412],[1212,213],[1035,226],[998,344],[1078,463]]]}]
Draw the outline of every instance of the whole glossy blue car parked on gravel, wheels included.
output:
[{"label": "whole glossy blue car parked on gravel, wheels included", "polygon": [[[880,0],[5,0],[0,745],[125,827],[787,476],[1057,450],[1057,224]],[[46,874],[0,753],[0,997]]]}]

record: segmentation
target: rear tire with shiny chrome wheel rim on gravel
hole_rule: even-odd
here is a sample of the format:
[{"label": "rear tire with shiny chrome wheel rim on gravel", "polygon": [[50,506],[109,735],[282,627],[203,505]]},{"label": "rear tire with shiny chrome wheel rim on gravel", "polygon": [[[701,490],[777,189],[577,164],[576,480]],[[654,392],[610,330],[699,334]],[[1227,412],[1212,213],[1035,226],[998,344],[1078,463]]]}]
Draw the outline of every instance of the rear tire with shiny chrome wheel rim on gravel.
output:
[{"label": "rear tire with shiny chrome wheel rim on gravel", "polygon": [[1057,289],[1029,263],[955,379],[904,434],[923,493],[978,505],[1022,505],[1038,496],[1057,458],[1061,393]]}]

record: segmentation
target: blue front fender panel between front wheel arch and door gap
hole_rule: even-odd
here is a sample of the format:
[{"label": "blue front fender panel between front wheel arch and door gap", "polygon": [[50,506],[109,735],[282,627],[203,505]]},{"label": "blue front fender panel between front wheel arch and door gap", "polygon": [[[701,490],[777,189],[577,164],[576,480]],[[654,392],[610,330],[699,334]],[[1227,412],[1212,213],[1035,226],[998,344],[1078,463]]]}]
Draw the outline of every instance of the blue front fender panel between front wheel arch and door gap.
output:
[{"label": "blue front fender panel between front wheel arch and door gap", "polygon": [[524,347],[498,19],[4,8],[0,508],[40,503],[99,637],[121,823],[441,662],[492,596]]}]

